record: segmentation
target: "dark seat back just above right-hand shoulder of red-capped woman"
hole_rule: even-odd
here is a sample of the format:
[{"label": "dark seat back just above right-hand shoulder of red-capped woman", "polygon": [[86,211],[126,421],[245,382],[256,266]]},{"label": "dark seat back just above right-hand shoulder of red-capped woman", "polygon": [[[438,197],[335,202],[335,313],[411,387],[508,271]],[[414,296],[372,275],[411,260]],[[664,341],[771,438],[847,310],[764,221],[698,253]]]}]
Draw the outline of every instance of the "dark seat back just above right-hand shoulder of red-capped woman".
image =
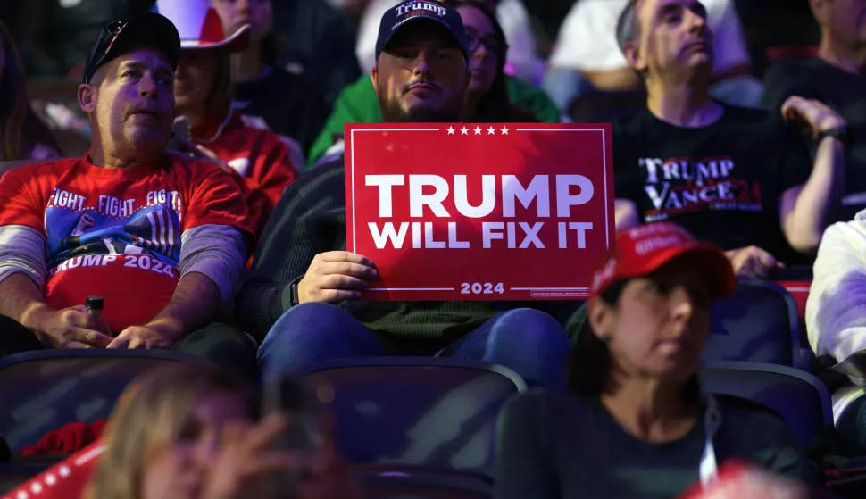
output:
[{"label": "dark seat back just above right-hand shoulder of red-capped woman", "polygon": [[803,370],[759,362],[706,362],[698,372],[706,392],[735,395],[777,412],[803,445],[833,425],[827,387]]}]

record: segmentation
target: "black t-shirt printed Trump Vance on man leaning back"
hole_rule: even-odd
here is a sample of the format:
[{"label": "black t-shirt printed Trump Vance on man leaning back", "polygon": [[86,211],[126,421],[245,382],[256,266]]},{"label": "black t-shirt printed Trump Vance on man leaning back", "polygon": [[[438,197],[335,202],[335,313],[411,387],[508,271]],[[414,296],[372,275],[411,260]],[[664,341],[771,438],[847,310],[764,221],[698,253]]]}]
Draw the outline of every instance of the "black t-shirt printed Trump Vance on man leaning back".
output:
[{"label": "black t-shirt printed Trump Vance on man leaning back", "polygon": [[670,220],[699,240],[784,254],[779,201],[803,185],[812,162],[803,138],[777,114],[725,106],[696,129],[648,109],[613,125],[615,195],[637,204],[641,222]]}]

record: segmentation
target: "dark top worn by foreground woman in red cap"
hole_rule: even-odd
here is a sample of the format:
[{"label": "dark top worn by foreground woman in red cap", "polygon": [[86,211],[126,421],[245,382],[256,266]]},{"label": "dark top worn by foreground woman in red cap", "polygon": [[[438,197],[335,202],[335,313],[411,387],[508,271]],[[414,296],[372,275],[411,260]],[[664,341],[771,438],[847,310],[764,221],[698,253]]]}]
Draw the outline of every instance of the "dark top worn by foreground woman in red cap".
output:
[{"label": "dark top worn by foreground woman in red cap", "polygon": [[[784,420],[734,399],[719,400],[716,459],[755,465],[810,483],[809,465]],[[496,499],[672,499],[700,479],[704,423],[651,444],[622,429],[598,398],[532,390],[499,418]]]}]

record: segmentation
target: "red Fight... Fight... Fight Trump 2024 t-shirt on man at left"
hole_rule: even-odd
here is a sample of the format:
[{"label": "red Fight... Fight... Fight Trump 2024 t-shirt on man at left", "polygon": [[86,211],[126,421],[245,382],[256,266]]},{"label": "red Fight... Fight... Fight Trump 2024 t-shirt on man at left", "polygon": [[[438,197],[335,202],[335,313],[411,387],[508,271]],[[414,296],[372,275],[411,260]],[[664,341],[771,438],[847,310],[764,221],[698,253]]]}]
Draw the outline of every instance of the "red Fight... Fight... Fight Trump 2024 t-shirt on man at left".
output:
[{"label": "red Fight... Fight... Fight Trump 2024 t-shirt on man at left", "polygon": [[165,154],[161,164],[111,170],[82,158],[25,166],[0,177],[0,233],[46,237],[46,303],[104,297],[112,331],[153,319],[179,281],[181,236],[203,225],[252,233],[228,173]]}]

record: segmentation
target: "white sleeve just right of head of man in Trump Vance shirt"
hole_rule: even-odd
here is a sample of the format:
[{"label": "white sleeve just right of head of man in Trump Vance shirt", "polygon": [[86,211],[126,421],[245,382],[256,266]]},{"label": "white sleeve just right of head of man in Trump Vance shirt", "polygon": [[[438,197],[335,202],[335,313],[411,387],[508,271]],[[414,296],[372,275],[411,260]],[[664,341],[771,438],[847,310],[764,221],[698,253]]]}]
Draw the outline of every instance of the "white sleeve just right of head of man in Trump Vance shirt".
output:
[{"label": "white sleeve just right of head of man in Trump Vance shirt", "polygon": [[707,11],[707,23],[712,29],[712,46],[716,57],[713,72],[720,73],[735,66],[751,64],[733,0],[710,2]]}]

